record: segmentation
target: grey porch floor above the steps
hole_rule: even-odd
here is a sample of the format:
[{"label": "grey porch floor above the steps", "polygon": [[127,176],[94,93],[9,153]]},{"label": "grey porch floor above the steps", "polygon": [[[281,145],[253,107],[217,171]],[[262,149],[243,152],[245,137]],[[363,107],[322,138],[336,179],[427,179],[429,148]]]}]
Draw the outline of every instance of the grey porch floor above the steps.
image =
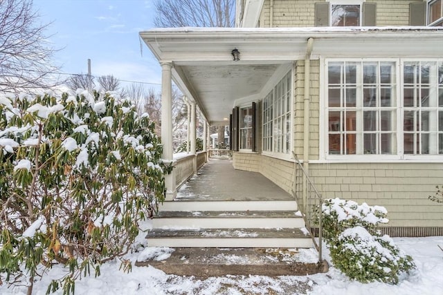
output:
[{"label": "grey porch floor above the steps", "polygon": [[294,200],[257,172],[236,170],[232,160],[210,159],[177,192],[175,200],[260,201]]}]

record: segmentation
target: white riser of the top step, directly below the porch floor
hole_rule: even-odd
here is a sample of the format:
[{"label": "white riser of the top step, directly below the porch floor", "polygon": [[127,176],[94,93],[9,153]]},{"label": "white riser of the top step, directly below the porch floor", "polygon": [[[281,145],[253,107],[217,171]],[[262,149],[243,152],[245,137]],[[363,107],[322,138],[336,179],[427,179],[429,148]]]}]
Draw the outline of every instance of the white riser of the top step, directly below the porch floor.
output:
[{"label": "white riser of the top step, directly below the porch floor", "polygon": [[159,206],[159,211],[297,211],[296,200],[256,200],[235,201],[231,199],[220,201],[165,201]]}]

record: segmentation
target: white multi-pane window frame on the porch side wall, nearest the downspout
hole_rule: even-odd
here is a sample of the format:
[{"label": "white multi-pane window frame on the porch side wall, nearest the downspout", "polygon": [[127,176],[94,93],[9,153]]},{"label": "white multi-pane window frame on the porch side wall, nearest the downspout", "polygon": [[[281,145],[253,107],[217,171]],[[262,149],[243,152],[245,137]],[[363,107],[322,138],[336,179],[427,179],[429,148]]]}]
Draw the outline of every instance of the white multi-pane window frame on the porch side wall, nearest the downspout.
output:
[{"label": "white multi-pane window frame on the porch side wall, nearest the downspout", "polygon": [[[293,68],[288,68],[286,66],[280,68],[280,70],[278,70],[278,75],[275,76],[275,78],[273,79],[273,83],[271,84],[270,87],[265,88],[266,90],[262,92],[262,123],[261,123],[261,127],[262,127],[262,135],[261,135],[261,149],[262,149],[262,154],[263,155],[268,155],[271,156],[273,158],[280,158],[283,160],[291,160],[291,153],[293,150]],[[276,142],[276,138],[275,138],[275,121],[278,120],[278,118],[276,117],[276,108],[275,108],[275,93],[278,93],[278,85],[280,84],[280,82],[282,82],[283,79],[287,79],[289,75],[289,86],[287,86],[287,89],[285,90],[286,93],[285,95],[289,95],[288,99],[289,99],[289,110],[287,110],[286,108],[286,112],[284,112],[284,115],[280,115],[280,117],[282,117],[282,119],[284,120],[284,123],[282,123],[283,125],[283,131],[282,131],[282,136],[283,136],[283,140],[282,140],[282,144],[285,143],[285,139],[287,137],[287,140],[289,141],[289,147],[288,147],[288,151],[287,153],[282,153],[277,151],[277,149],[275,148],[275,142]],[[286,82],[287,85],[287,82]],[[289,89],[288,89],[289,88]],[[269,95],[269,93],[271,93],[271,91],[273,92],[273,114],[272,114],[272,130],[271,130],[271,135],[269,136],[269,138],[271,138],[272,141],[272,149],[266,150],[264,149],[264,145],[265,145],[265,140],[266,140],[266,130],[265,130],[265,125],[268,124],[268,121],[265,121],[265,108],[264,108],[264,99],[266,99],[266,97]],[[289,120],[286,120],[286,117],[289,116]]]}]

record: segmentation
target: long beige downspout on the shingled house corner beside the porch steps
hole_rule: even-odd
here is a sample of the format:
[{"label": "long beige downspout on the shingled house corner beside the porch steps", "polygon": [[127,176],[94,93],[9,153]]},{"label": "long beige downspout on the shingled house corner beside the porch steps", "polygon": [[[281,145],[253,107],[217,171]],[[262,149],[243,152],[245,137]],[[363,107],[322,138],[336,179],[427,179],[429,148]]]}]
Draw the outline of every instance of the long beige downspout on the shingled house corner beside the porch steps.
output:
[{"label": "long beige downspout on the shingled house corner beside the porch steps", "polygon": [[[311,53],[314,46],[314,39],[309,37],[306,44],[305,55],[305,100],[304,100],[304,113],[303,113],[303,167],[305,171],[309,173],[309,130],[310,124],[310,104],[311,104]],[[305,175],[303,175],[303,206],[305,207],[305,213],[307,212],[307,181]]]}]

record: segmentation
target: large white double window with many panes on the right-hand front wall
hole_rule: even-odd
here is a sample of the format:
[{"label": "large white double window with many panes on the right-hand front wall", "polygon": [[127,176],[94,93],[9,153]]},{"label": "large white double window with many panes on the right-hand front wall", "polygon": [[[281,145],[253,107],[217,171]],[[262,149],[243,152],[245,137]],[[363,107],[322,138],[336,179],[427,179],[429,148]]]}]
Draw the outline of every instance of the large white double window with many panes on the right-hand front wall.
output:
[{"label": "large white double window with many panes on the right-hand front wall", "polygon": [[329,61],[326,104],[328,155],[443,154],[442,61]]}]

